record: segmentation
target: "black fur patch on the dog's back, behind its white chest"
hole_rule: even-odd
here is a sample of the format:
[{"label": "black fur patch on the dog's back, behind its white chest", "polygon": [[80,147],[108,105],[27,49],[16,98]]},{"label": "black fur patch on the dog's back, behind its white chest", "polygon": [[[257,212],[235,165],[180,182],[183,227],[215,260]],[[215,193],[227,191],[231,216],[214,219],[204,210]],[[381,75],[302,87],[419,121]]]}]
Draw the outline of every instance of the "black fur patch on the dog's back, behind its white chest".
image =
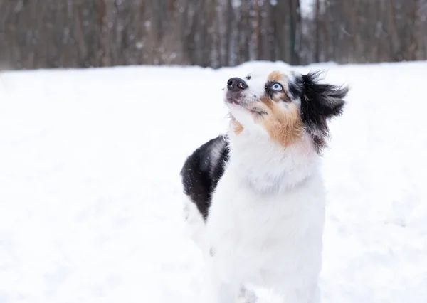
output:
[{"label": "black fur patch on the dog's back, behind its white chest", "polygon": [[212,193],[223,175],[228,158],[228,141],[221,135],[196,149],[181,169],[184,193],[196,204],[205,220]]}]

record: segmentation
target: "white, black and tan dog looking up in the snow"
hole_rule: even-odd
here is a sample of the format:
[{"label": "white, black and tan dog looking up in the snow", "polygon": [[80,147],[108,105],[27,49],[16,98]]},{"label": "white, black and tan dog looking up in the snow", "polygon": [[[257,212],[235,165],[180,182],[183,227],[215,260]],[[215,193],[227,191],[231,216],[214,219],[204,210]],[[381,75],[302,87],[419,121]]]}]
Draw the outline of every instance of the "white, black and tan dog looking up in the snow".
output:
[{"label": "white, black and tan dog looking up in the snow", "polygon": [[201,302],[236,302],[246,285],[273,289],[284,303],[320,302],[320,159],[348,87],[319,76],[258,70],[229,79],[228,132],[186,159],[185,216],[206,261]]}]

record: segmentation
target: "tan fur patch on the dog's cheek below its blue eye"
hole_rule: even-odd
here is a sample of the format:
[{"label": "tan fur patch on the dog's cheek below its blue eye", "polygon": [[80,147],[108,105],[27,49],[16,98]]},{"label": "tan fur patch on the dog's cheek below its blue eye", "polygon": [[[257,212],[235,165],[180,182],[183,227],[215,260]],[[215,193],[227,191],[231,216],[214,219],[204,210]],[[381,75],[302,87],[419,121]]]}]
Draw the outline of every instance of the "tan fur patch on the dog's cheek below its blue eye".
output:
[{"label": "tan fur patch on the dog's cheek below its blue eye", "polygon": [[302,121],[297,105],[288,103],[288,110],[285,111],[268,97],[261,98],[261,101],[267,105],[269,112],[261,117],[260,122],[271,139],[283,147],[289,147],[301,139]]}]

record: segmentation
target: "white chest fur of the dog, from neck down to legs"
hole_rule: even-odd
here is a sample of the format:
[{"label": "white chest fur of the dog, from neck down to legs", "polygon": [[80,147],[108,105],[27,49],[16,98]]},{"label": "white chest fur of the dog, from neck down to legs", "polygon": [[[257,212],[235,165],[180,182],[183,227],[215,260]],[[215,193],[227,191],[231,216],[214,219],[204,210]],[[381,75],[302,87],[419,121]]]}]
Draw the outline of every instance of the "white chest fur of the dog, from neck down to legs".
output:
[{"label": "white chest fur of the dog, from neck down to legs", "polygon": [[212,270],[229,285],[316,302],[325,216],[317,155],[304,140],[283,151],[253,139],[231,134],[231,159],[206,223]]}]

